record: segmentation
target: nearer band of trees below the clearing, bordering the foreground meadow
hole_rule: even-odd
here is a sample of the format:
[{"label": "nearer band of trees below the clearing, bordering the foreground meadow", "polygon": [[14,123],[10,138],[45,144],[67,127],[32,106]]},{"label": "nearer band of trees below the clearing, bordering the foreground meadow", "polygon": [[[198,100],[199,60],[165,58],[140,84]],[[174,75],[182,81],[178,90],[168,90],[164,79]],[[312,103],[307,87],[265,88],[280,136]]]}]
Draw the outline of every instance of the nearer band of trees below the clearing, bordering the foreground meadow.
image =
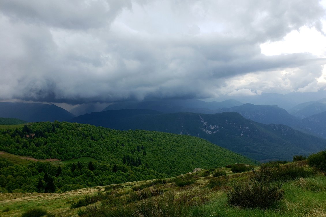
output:
[{"label": "nearer band of trees below the clearing, bordering the foreground meadow", "polygon": [[0,159],[0,192],[64,192],[85,187],[110,185],[166,177],[147,168],[108,165],[101,162],[77,162],[55,165],[30,161],[14,165]]}]

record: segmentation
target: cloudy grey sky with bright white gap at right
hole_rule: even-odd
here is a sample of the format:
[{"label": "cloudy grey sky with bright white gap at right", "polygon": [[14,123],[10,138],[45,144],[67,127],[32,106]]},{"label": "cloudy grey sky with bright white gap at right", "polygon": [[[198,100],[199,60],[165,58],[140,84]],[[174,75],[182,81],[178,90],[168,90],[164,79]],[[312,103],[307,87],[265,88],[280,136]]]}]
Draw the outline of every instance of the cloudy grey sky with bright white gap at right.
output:
[{"label": "cloudy grey sky with bright white gap at right", "polygon": [[1,0],[0,101],[326,93],[325,10],[326,0]]}]

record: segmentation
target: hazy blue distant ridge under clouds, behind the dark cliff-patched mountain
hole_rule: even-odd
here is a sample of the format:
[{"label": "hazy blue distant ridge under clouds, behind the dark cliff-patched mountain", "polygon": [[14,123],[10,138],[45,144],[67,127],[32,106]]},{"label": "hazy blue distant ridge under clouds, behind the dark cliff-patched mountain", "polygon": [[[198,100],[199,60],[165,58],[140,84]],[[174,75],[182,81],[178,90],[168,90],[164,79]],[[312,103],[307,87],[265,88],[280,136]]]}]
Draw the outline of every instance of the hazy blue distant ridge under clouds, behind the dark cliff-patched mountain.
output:
[{"label": "hazy blue distant ridge under clouds, behind the dark cliff-patched mountain", "polygon": [[237,100],[225,100],[222,102],[205,102],[198,99],[164,99],[164,100],[147,100],[147,101],[125,101],[115,102],[104,108],[106,110],[120,110],[125,108],[131,109],[150,109],[164,113],[173,112],[200,112],[212,114],[218,112],[217,109],[224,107],[234,107],[243,103]]}]

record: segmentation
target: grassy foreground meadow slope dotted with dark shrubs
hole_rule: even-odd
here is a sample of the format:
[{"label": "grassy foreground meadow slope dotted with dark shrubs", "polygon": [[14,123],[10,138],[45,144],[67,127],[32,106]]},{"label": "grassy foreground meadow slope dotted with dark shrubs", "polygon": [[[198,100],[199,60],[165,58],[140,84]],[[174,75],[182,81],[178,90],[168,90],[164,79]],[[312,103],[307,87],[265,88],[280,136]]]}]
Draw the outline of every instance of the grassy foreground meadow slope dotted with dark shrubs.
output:
[{"label": "grassy foreground meadow slope dotted with dark shrubs", "polygon": [[[244,165],[242,172],[234,171],[234,167],[243,165],[229,165],[167,179],[64,193],[4,193],[0,195],[1,215],[24,216],[28,211],[43,211],[47,216],[326,216],[325,173],[307,162]],[[291,175],[280,175],[284,172]],[[255,180],[281,183],[281,198],[268,207],[230,204],[230,192],[236,185]],[[246,192],[245,197],[250,198],[252,193]],[[260,193],[255,192],[258,197]]]}]

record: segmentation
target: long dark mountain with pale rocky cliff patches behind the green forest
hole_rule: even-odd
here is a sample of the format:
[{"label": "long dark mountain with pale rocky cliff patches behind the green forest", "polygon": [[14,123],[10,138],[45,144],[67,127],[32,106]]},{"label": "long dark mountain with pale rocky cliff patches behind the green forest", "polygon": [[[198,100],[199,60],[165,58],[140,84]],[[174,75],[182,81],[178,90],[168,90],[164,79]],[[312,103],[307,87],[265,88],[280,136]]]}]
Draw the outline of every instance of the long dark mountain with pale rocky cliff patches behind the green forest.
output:
[{"label": "long dark mountain with pale rocky cliff patches behind the green forest", "polygon": [[[326,148],[326,140],[289,126],[247,120],[237,112],[220,114],[161,113],[130,109],[86,114],[72,122],[90,123],[119,130],[143,129],[194,135],[260,161],[291,160]],[[131,115],[135,113],[135,115]]]}]

